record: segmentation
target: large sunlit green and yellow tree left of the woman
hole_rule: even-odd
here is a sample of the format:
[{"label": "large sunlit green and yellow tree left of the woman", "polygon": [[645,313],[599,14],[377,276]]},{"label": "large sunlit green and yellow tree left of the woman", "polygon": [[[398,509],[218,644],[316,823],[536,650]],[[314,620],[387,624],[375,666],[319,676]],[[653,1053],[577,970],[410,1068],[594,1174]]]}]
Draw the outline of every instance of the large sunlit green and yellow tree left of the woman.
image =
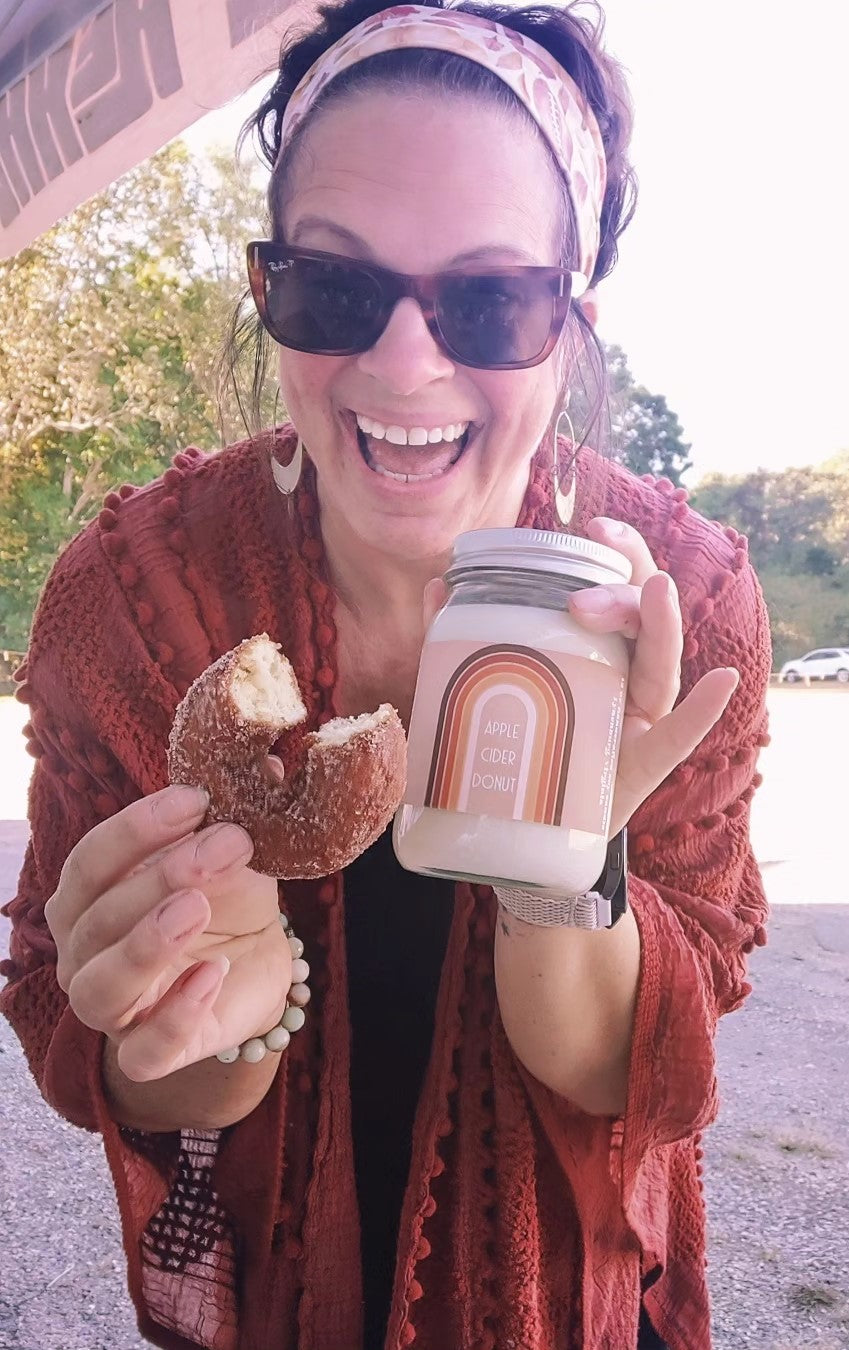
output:
[{"label": "large sunlit green and yellow tree left of the woman", "polygon": [[174,142],[0,262],[0,643],[23,648],[63,544],[121,482],[239,432],[216,362],[262,190]]}]

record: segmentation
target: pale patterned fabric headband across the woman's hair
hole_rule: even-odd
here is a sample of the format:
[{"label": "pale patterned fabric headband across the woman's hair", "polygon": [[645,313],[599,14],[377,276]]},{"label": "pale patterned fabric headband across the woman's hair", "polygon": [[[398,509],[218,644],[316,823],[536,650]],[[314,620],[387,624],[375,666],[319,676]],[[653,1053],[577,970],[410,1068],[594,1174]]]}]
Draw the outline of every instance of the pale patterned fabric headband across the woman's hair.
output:
[{"label": "pale patterned fabric headband across the woman's hair", "polygon": [[[466,57],[513,90],[551,146],[570,190],[588,285],[599,248],[599,221],[607,162],[598,123],[571,76],[530,38],[491,19],[456,9],[402,4],[359,23],[319,57],[286,104],[281,151],[333,80],[350,66],[382,51],[425,47]],[[575,293],[575,292],[574,292]]]}]

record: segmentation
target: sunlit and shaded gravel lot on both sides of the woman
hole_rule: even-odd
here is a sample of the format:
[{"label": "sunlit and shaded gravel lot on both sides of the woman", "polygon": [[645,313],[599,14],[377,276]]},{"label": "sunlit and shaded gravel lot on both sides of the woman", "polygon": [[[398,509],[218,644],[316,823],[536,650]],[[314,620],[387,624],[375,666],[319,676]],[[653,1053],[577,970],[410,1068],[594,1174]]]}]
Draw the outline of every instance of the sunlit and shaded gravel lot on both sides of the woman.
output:
[{"label": "sunlit and shaded gravel lot on both sides of the woman", "polygon": [[[848,1350],[849,693],[776,688],[769,703],[753,840],[771,937],[753,995],[719,1026],[705,1146],[714,1347]],[[0,699],[0,902],[26,841],[23,714]],[[3,1021],[0,1065],[0,1350],[142,1350],[99,1141],[45,1106]]]}]

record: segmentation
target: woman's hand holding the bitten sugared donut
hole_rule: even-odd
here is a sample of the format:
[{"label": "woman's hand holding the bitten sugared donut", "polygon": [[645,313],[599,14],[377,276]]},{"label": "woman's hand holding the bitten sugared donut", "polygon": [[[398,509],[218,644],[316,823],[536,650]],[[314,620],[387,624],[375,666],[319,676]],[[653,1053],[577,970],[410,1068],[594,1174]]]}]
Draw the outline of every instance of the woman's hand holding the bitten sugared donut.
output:
[{"label": "woman's hand holding the bitten sugared donut", "polygon": [[136,1083],[262,1035],[292,984],[277,882],[240,826],[193,833],[205,811],[193,787],[132,802],[80,840],[45,907],[70,1007]]}]

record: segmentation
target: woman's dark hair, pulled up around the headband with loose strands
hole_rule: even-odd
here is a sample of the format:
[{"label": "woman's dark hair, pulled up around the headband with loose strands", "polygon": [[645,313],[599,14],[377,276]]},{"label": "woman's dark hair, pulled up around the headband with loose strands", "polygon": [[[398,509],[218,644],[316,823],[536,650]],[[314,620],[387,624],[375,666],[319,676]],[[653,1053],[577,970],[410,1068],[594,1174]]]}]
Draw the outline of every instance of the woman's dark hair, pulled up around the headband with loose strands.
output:
[{"label": "woman's dark hair, pulled up around the headband with loose strands", "polygon": [[[386,8],[385,0],[343,0],[341,4],[319,7],[319,20],[308,31],[287,36],[281,51],[279,66],[274,85],[267,92],[256,112],[242,130],[239,144],[251,134],[256,134],[263,158],[271,169],[269,184],[269,209],[271,236],[279,238],[282,186],[292,171],[298,146],[314,119],[328,107],[354,92],[374,88],[397,89],[398,92],[436,88],[440,93],[463,94],[485,99],[498,107],[510,109],[513,115],[533,122],[530,113],[520,104],[513,92],[493,72],[478,66],[463,57],[444,51],[400,50],[383,53],[359,62],[329,82],[313,105],[306,123],[286,147],[278,162],[281,127],[286,104],[319,57],[339,38],[362,23],[373,14]],[[432,4],[431,8],[444,8]],[[506,4],[478,4],[474,0],[452,7],[454,12],[472,14],[502,23],[516,32],[525,34],[544,47],[572,77],[584,94],[599,124],[607,159],[607,186],[601,216],[601,247],[595,270],[590,278],[597,285],[614,267],[618,255],[618,239],[633,216],[637,197],[636,176],[628,158],[632,131],[632,108],[625,78],[618,63],[602,47],[605,20],[601,7],[590,4],[570,4],[564,8],[553,5],[529,5],[513,8]],[[536,126],[536,124],[535,124]],[[548,148],[548,146],[547,146]],[[549,159],[557,178],[560,169],[553,154]],[[563,192],[563,266],[575,265],[575,223],[568,193]],[[270,346],[252,306],[243,297],[229,333],[225,370],[236,387],[236,397],[246,427],[255,432],[261,425],[261,396],[267,377]],[[590,428],[598,435],[598,420],[606,405],[606,371],[603,348],[593,325],[584,317],[579,305],[572,305],[570,313],[572,369],[571,383],[583,385],[582,404],[584,417],[582,440]],[[246,404],[236,375],[238,366],[248,358],[251,370],[251,390]]]}]

